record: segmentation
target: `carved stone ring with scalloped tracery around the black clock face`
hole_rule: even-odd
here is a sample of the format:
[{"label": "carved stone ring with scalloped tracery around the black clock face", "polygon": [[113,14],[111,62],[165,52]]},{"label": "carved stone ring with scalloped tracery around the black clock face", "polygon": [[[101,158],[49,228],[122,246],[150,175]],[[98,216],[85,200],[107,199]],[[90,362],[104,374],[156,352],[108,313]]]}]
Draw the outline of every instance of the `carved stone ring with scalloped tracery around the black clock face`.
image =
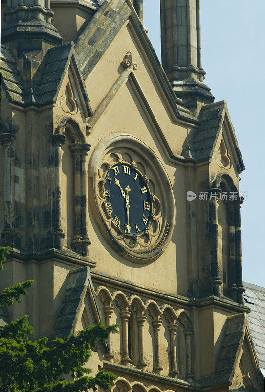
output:
[{"label": "carved stone ring with scalloped tracery around the black clock face", "polygon": [[[150,195],[150,219],[139,235],[118,227],[107,208],[106,177],[115,165],[120,164],[138,173]],[[173,190],[163,165],[140,139],[116,133],[98,144],[88,166],[88,197],[101,233],[124,258],[135,263],[149,263],[166,249],[176,220]]]}]

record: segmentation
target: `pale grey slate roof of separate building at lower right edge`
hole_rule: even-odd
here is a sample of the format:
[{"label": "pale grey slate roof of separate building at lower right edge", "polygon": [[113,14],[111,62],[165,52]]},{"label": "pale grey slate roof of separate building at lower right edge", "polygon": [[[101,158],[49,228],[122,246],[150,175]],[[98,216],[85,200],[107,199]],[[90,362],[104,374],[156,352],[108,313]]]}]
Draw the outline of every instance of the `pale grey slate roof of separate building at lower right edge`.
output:
[{"label": "pale grey slate roof of separate building at lower right edge", "polygon": [[259,365],[265,374],[265,288],[243,282],[246,288],[245,305],[251,309],[247,315],[251,337],[259,360]]}]

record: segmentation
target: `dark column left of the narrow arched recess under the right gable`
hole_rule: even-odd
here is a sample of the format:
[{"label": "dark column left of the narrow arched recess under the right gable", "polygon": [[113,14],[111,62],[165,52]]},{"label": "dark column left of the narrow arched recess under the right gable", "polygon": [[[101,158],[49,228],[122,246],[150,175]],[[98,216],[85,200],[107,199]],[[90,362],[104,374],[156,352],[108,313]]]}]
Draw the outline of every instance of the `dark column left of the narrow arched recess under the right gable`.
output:
[{"label": "dark column left of the narrow arched recess under the right gable", "polygon": [[[209,193],[220,193],[220,189],[210,189]],[[213,198],[209,201],[209,221],[210,221],[210,253],[211,253],[211,278],[213,282],[213,294],[221,297],[222,281],[219,272],[218,260],[218,202]]]}]

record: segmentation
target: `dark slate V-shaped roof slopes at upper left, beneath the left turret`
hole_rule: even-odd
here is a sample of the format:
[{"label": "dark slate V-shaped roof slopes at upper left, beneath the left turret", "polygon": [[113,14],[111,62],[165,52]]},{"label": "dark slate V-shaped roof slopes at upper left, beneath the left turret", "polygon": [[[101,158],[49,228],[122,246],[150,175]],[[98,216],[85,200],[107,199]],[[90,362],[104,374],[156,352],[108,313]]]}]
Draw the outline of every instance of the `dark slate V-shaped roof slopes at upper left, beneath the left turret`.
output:
[{"label": "dark slate V-shaped roof slopes at upper left, beneath the left turret", "polygon": [[86,102],[87,114],[92,115],[85,83],[75,58],[74,43],[59,45],[50,48],[44,57],[44,67],[41,74],[37,72],[30,87],[19,75],[15,58],[11,50],[1,45],[1,84],[8,100],[19,106],[45,106],[56,102],[60,87],[69,67],[74,62],[79,73],[79,84]]}]

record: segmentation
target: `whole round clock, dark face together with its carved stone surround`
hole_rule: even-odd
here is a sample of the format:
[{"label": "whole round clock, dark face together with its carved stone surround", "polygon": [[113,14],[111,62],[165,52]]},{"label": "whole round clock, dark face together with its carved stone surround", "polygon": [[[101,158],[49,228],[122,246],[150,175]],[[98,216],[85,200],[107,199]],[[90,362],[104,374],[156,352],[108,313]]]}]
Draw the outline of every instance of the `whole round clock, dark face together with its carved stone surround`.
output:
[{"label": "whole round clock, dark face together with its carved stone surround", "polygon": [[149,263],[166,249],[175,225],[175,200],[155,153],[125,133],[109,135],[88,167],[88,196],[99,228],[126,259]]}]

